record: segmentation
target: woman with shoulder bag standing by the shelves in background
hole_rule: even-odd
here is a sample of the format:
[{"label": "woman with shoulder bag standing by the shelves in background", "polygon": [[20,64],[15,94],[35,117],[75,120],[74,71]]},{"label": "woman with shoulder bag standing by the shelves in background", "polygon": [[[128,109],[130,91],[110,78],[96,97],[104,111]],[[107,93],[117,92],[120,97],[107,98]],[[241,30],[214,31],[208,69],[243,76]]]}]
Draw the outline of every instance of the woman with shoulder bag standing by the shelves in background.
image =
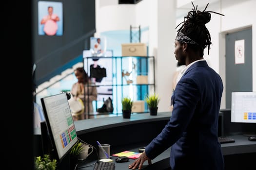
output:
[{"label": "woman with shoulder bag standing by the shelves in background", "polygon": [[[80,67],[75,69],[75,75],[78,79],[78,82],[72,85],[71,94],[75,100],[78,98],[82,100],[84,103],[84,113],[79,115],[78,117],[73,116],[74,120],[87,119],[87,113],[93,113],[93,101],[97,100],[97,88],[96,86],[88,86],[92,85],[88,74],[85,70]],[[88,110],[89,106],[89,110]]]}]

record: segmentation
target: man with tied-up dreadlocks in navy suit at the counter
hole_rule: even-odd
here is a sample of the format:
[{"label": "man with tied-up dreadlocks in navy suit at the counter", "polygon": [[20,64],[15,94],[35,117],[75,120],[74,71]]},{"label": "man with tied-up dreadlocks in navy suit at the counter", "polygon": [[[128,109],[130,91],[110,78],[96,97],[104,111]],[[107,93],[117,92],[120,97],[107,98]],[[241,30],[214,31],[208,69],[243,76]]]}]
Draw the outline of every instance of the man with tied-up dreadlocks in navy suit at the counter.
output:
[{"label": "man with tied-up dreadlocks in navy suit at the counter", "polygon": [[203,50],[208,47],[209,54],[212,44],[205,24],[211,20],[210,13],[215,12],[205,11],[208,4],[203,11],[198,11],[193,2],[192,5],[194,8],[180,23],[183,25],[175,39],[175,57],[186,67],[173,92],[172,116],[129,169],[141,169],[146,160],[150,165],[152,159],[169,147],[172,170],[224,169],[217,138],[223,84],[203,58]]}]

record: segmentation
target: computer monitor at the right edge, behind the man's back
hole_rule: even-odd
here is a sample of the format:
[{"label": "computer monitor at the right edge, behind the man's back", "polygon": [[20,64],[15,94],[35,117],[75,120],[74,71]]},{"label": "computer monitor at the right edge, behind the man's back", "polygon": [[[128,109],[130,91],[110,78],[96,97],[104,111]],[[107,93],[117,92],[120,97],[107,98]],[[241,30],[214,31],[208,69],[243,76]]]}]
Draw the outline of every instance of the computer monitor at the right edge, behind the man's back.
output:
[{"label": "computer monitor at the right edge, behind the man's back", "polygon": [[256,123],[256,92],[231,93],[231,122]]}]

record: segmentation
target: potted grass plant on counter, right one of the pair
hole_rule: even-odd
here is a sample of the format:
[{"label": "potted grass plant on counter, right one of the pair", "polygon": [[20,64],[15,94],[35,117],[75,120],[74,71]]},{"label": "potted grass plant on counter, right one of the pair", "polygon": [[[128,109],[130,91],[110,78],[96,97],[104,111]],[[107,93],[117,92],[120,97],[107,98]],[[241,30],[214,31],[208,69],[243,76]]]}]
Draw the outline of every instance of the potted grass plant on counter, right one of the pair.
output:
[{"label": "potted grass plant on counter, right one of the pair", "polygon": [[156,116],[158,114],[158,103],[160,101],[158,94],[147,95],[145,101],[148,104],[150,115]]}]

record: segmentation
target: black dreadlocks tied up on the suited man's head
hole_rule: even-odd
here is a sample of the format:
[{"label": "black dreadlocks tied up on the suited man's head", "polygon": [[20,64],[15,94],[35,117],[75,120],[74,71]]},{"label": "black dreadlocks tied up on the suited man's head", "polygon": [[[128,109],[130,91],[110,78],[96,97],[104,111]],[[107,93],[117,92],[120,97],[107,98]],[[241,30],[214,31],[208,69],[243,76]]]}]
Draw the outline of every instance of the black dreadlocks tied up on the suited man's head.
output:
[{"label": "black dreadlocks tied up on the suited man's head", "polygon": [[[192,11],[188,12],[186,17],[184,17],[184,21],[180,23],[183,25],[177,30],[177,32],[181,32],[184,35],[191,38],[192,40],[194,40],[195,42],[197,42],[197,44],[188,43],[188,46],[191,47],[191,49],[194,49],[194,51],[199,51],[200,57],[202,57],[203,50],[206,47],[208,47],[209,55],[209,51],[211,49],[210,45],[212,44],[211,34],[209,33],[205,24],[211,20],[211,13],[215,13],[221,16],[224,15],[213,11],[205,11],[209,3],[206,5],[205,9],[202,12],[197,10],[197,7],[195,8],[193,2],[192,5],[194,8],[192,9]],[[180,24],[178,24],[177,27]]]}]

